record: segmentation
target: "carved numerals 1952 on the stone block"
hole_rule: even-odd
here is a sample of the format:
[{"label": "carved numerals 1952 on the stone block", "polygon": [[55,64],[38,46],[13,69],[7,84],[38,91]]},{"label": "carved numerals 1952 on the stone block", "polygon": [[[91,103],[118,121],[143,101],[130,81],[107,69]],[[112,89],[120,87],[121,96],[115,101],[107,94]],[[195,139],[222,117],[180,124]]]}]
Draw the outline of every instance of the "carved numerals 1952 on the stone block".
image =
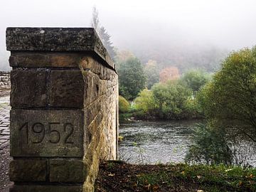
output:
[{"label": "carved numerals 1952 on the stone block", "polygon": [[28,122],[25,122],[18,130],[25,133],[27,144],[39,144],[43,141],[52,144],[58,144],[61,141],[64,144],[74,143],[71,138],[74,133],[74,126],[71,123],[48,122],[47,124],[42,124],[41,122],[36,122],[28,124]]}]

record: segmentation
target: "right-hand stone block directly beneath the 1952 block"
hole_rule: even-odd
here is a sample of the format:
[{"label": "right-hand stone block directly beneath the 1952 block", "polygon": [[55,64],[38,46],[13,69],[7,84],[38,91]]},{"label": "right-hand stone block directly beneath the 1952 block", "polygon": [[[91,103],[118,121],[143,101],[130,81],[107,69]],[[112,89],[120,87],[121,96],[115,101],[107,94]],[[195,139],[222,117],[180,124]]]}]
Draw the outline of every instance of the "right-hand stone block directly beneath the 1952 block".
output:
[{"label": "right-hand stone block directly beneath the 1952 block", "polygon": [[83,182],[85,181],[83,169],[82,160],[50,160],[50,182]]}]

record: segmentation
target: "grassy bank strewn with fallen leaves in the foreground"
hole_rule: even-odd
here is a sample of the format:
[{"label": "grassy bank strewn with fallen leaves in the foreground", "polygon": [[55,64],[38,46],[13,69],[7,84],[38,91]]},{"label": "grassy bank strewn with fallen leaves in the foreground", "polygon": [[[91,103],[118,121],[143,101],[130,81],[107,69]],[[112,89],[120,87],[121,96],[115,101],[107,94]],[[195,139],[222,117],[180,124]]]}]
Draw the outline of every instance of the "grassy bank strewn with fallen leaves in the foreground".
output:
[{"label": "grassy bank strewn with fallen leaves in the foreground", "polygon": [[95,182],[97,192],[256,191],[256,169],[186,164],[134,165],[105,161]]}]

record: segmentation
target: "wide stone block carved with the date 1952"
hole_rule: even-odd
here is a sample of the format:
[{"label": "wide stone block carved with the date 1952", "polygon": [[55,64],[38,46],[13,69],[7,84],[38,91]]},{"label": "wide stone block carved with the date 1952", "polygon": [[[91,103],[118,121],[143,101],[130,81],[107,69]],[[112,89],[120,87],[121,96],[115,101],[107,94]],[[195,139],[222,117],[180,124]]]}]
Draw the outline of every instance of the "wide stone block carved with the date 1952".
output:
[{"label": "wide stone block carved with the date 1952", "polygon": [[80,110],[11,110],[11,156],[83,154]]}]

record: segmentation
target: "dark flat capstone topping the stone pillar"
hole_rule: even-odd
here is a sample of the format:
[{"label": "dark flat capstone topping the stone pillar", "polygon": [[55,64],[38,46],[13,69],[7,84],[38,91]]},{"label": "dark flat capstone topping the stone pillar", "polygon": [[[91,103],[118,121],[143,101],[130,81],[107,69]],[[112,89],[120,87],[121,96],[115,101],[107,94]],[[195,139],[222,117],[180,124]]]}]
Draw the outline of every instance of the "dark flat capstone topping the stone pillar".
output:
[{"label": "dark flat capstone topping the stone pillar", "polygon": [[81,51],[114,63],[94,28],[6,28],[6,48],[11,51]]}]

